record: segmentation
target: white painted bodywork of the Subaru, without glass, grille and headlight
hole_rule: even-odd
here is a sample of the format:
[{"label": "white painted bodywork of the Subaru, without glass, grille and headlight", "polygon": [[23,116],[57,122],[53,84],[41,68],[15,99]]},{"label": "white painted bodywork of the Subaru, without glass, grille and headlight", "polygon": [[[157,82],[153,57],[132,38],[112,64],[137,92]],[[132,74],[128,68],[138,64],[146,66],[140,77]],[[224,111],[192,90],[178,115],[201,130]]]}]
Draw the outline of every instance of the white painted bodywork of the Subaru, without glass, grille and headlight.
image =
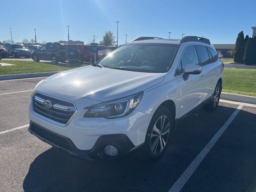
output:
[{"label": "white painted bodywork of the Subaru, without glass, grille and headlight", "polygon": [[[156,41],[145,40],[143,42]],[[158,42],[177,44],[177,42],[166,40]],[[61,126],[40,118],[32,112],[30,106],[30,120],[70,138],[80,150],[92,149],[98,138],[107,134],[125,134],[134,146],[138,146],[144,143],[150,120],[164,101],[174,102],[177,119],[209,98],[218,80],[222,78],[223,67],[220,61],[202,67],[201,74],[190,75],[186,81],[183,80],[182,75],[175,76],[182,52],[186,46],[191,44],[206,46],[199,42],[182,43],[171,69],[164,74],[87,66],[50,76],[34,91],[70,100],[76,105],[77,112],[67,126]],[[205,77],[203,80],[200,79],[202,74]],[[83,117],[86,106],[141,91],[144,91],[144,95],[140,103],[127,116],[114,119]]]}]

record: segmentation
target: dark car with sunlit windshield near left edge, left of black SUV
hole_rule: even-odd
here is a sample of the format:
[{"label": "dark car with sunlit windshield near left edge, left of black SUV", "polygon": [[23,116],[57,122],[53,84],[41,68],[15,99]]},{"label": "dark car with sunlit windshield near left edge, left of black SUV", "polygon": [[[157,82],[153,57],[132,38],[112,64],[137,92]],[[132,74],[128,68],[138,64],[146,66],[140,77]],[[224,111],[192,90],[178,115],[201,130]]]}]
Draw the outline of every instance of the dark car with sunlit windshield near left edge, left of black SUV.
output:
[{"label": "dark car with sunlit windshield near left edge, left of black SUV", "polygon": [[18,58],[18,57],[30,58],[31,57],[30,50],[26,49],[23,44],[4,43],[3,47],[7,52],[7,56],[12,56],[13,58]]}]

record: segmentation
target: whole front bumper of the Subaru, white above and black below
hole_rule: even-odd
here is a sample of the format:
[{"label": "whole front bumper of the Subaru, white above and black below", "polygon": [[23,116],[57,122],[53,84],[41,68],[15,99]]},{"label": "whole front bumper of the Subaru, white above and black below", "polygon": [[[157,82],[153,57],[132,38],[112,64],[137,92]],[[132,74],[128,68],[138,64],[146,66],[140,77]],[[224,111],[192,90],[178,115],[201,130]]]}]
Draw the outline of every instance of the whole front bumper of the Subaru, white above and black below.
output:
[{"label": "whole front bumper of the Subaru, white above and black below", "polygon": [[[72,101],[76,106],[77,111],[74,116],[72,116],[70,122],[66,125],[59,125],[47,120],[43,116],[38,116],[38,114],[33,110],[32,102],[30,102],[29,107],[30,122],[33,122],[43,129],[58,134],[59,136],[67,138],[69,146],[74,146],[72,147],[72,150],[65,149],[71,154],[89,160],[104,158],[104,156],[102,157],[100,154],[102,150],[102,143],[99,145],[99,141],[103,140],[102,138],[104,138],[105,145],[108,143],[106,141],[109,141],[108,144],[111,144],[110,142],[112,142],[113,145],[118,145],[117,147],[120,147],[122,151],[124,151],[124,154],[130,153],[128,151],[140,146],[145,141],[148,125],[152,118],[149,114],[134,110],[127,116],[115,119],[84,118],[84,113],[86,112],[84,107],[100,103],[99,101],[55,92],[41,86],[37,88],[37,92],[62,98],[62,100]],[[29,130],[33,132],[31,129]],[[63,148],[58,143],[54,144],[36,132],[33,134],[52,146]],[[116,135],[122,136],[116,137]],[[122,140],[127,142],[116,142],[116,140],[120,140],[119,137],[125,138]],[[126,148],[127,146],[128,148]],[[97,152],[94,153],[94,151]],[[80,154],[86,155],[83,156]],[[122,152],[120,154],[122,154]]]}]

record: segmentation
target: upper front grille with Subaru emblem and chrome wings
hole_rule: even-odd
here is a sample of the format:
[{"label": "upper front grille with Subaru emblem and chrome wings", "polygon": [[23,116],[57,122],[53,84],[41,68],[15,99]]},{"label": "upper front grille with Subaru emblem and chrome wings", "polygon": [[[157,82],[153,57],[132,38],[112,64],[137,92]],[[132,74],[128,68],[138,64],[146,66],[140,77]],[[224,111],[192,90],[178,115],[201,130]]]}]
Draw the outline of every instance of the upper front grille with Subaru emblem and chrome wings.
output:
[{"label": "upper front grille with Subaru emblem and chrome wings", "polygon": [[34,112],[61,125],[68,123],[76,112],[73,103],[36,93],[33,96]]}]

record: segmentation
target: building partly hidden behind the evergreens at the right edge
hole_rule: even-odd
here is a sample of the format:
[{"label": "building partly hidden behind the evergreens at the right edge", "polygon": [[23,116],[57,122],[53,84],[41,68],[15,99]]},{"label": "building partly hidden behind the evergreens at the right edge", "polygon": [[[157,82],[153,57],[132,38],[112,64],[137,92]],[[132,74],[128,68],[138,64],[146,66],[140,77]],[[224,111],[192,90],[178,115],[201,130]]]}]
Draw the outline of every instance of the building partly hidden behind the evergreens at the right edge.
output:
[{"label": "building partly hidden behind the evergreens at the right edge", "polygon": [[[256,36],[256,27],[252,27],[252,38]],[[213,44],[218,53],[222,53],[223,58],[233,58],[232,50],[235,49],[235,44]]]}]

